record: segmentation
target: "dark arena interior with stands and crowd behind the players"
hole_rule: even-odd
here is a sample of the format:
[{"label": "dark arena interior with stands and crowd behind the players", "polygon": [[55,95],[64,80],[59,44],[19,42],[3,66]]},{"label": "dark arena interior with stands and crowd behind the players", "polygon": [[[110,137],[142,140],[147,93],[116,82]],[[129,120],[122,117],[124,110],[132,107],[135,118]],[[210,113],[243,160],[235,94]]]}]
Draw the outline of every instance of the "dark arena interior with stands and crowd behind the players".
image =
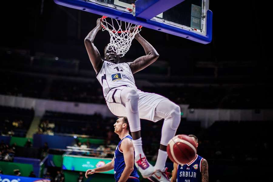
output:
[{"label": "dark arena interior with stands and crowd behind the players", "polygon": [[[207,45],[147,28],[140,32],[160,58],[135,74],[136,86],[180,105],[177,134],[199,138],[197,153],[208,161],[210,181],[270,180],[269,8],[256,1],[211,1],[213,39]],[[97,164],[87,163],[86,156],[113,157],[119,141],[113,133],[116,117],[105,104],[83,43],[98,18],[52,0],[1,5],[2,179],[19,169],[23,177],[33,171],[37,178],[54,181],[59,171],[66,182],[78,181],[79,171],[86,170],[82,166]],[[108,42],[108,32],[100,31],[94,44],[101,55]],[[134,40],[121,60],[144,54]],[[143,148],[151,163],[162,123],[141,121]],[[170,160],[166,166],[172,170]],[[113,174],[94,174],[84,181],[114,179]]]}]

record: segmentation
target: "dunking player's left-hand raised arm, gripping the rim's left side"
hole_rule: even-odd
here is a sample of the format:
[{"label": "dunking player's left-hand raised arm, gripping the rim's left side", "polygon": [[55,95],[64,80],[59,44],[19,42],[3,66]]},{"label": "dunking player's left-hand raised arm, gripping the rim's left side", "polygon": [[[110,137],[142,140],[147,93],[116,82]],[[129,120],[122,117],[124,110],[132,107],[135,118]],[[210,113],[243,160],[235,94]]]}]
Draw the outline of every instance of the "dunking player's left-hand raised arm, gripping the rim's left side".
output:
[{"label": "dunking player's left-hand raised arm, gripping the rim's left side", "polygon": [[93,68],[96,71],[96,74],[101,69],[102,59],[101,59],[99,51],[96,48],[96,46],[94,45],[93,41],[96,37],[96,34],[102,28],[100,22],[101,22],[101,19],[97,19],[97,26],[93,30],[91,30],[91,32],[89,32],[89,34],[84,39],[84,45],[86,47],[86,50],[87,50],[89,59],[93,65]]}]

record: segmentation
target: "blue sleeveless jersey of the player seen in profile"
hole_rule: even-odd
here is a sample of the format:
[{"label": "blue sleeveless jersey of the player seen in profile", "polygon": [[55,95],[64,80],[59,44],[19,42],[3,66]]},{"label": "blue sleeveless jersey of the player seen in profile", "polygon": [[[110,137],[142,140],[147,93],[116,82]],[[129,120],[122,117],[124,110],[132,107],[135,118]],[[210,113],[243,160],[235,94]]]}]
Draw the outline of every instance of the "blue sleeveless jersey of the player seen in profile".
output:
[{"label": "blue sleeveless jersey of the player seen in profile", "polygon": [[[133,140],[132,136],[130,136],[130,135],[125,136],[122,140],[124,140],[125,138],[128,138],[129,140]],[[126,139],[126,140],[128,140],[128,139]],[[115,175],[116,181],[118,181],[120,179],[120,176],[125,168],[123,152],[120,151],[120,144],[121,144],[122,140],[120,140],[119,144],[116,146],[116,151],[114,154],[114,175]],[[138,177],[139,177],[139,175],[137,174],[136,166],[134,164],[134,170],[130,174],[129,178],[138,178]]]}]

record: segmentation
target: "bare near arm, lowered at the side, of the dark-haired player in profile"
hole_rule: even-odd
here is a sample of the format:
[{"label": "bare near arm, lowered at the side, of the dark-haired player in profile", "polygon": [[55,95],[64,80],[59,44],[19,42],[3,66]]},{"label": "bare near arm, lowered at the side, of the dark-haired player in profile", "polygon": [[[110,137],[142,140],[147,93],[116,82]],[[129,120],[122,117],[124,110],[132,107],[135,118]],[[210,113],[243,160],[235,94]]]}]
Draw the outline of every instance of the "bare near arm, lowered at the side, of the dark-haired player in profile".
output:
[{"label": "bare near arm, lowered at the side, of the dark-haired player in profile", "polygon": [[122,140],[120,149],[123,152],[125,168],[120,176],[119,182],[128,180],[130,174],[134,170],[134,146],[131,140]]}]

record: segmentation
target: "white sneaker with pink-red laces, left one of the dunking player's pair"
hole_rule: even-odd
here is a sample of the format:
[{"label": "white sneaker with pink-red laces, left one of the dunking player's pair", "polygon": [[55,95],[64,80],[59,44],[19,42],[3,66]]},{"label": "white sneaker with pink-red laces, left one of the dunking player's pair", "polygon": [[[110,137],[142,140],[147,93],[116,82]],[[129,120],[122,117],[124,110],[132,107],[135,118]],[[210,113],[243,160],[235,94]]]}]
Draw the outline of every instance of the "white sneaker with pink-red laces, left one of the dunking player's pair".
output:
[{"label": "white sneaker with pink-red laces, left one of the dunking player's pair", "polygon": [[144,178],[148,178],[155,173],[154,167],[148,163],[145,156],[141,157],[141,154],[135,157],[135,165]]}]

